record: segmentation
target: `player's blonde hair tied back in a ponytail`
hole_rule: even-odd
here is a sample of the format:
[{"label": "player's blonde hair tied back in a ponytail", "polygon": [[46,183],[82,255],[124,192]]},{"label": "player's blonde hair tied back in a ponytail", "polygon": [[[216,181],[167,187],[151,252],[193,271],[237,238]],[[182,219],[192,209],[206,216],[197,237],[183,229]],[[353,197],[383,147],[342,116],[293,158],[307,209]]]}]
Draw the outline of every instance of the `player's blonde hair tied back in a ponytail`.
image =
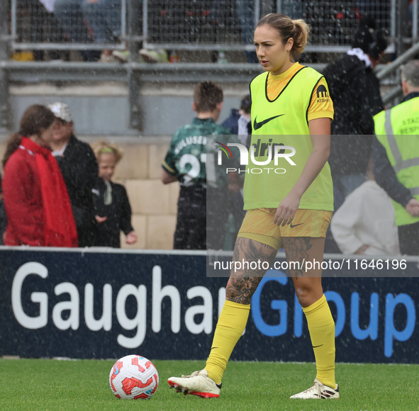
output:
[{"label": "player's blonde hair tied back in a ponytail", "polygon": [[289,16],[279,13],[270,13],[262,17],[257,23],[257,27],[265,24],[275,28],[284,45],[292,38],[294,45],[291,48],[292,55],[300,55],[308,43],[310,26],[302,19],[291,20]]}]

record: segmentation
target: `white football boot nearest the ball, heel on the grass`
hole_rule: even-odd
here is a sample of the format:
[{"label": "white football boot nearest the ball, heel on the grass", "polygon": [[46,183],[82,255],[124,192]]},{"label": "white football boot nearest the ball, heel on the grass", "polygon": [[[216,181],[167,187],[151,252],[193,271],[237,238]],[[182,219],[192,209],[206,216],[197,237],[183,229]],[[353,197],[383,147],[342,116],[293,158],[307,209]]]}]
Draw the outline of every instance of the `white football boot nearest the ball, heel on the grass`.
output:
[{"label": "white football boot nearest the ball, heel on the grass", "polygon": [[184,395],[198,395],[203,398],[218,398],[220,396],[221,384],[216,384],[211,380],[205,368],[191,373],[190,376],[170,377],[167,382],[170,388],[174,388],[177,393],[184,393]]}]

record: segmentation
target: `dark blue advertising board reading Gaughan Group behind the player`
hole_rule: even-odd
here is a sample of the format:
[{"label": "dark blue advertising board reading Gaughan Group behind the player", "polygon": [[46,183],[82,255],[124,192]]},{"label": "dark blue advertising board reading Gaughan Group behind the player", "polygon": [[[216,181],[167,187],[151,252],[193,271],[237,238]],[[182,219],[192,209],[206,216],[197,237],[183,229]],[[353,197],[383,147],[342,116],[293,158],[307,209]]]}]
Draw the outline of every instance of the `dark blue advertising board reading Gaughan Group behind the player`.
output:
[{"label": "dark blue advertising board reading Gaughan Group behind the player", "polygon": [[[205,252],[0,247],[0,261],[0,355],[208,355],[227,278],[206,276]],[[419,363],[417,273],[410,258],[401,278],[323,278],[336,361]],[[269,275],[231,358],[314,361],[291,279],[281,270]]]}]

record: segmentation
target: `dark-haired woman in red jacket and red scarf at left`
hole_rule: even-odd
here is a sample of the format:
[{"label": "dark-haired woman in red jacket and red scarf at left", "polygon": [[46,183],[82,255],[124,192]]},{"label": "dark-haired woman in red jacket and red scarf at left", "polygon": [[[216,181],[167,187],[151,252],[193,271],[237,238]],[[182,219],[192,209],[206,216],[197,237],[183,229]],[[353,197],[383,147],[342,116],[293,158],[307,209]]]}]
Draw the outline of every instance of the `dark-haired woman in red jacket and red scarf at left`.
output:
[{"label": "dark-haired woman in red jacket and red scarf at left", "polygon": [[49,149],[55,116],[30,106],[4,154],[3,193],[7,215],[5,245],[77,247],[67,188]]}]

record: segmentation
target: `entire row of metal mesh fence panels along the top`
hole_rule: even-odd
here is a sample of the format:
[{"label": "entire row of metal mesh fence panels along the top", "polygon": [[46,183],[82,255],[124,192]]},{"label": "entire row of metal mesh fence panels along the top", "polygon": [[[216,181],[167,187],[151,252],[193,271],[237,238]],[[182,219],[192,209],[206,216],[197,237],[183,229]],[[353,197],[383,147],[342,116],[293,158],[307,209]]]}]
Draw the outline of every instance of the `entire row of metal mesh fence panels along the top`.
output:
[{"label": "entire row of metal mesh fence panels along the top", "polygon": [[[1,0],[4,1],[4,0]],[[7,0],[6,0],[7,1]],[[402,0],[9,0],[14,50],[115,49],[130,33],[143,47],[170,50],[253,50],[260,16],[284,13],[311,26],[312,51],[350,46],[365,14],[387,37],[396,38],[396,8]],[[138,9],[129,30],[130,8]],[[143,18],[145,16],[145,18]],[[410,5],[413,38],[418,35],[418,0]]]}]

